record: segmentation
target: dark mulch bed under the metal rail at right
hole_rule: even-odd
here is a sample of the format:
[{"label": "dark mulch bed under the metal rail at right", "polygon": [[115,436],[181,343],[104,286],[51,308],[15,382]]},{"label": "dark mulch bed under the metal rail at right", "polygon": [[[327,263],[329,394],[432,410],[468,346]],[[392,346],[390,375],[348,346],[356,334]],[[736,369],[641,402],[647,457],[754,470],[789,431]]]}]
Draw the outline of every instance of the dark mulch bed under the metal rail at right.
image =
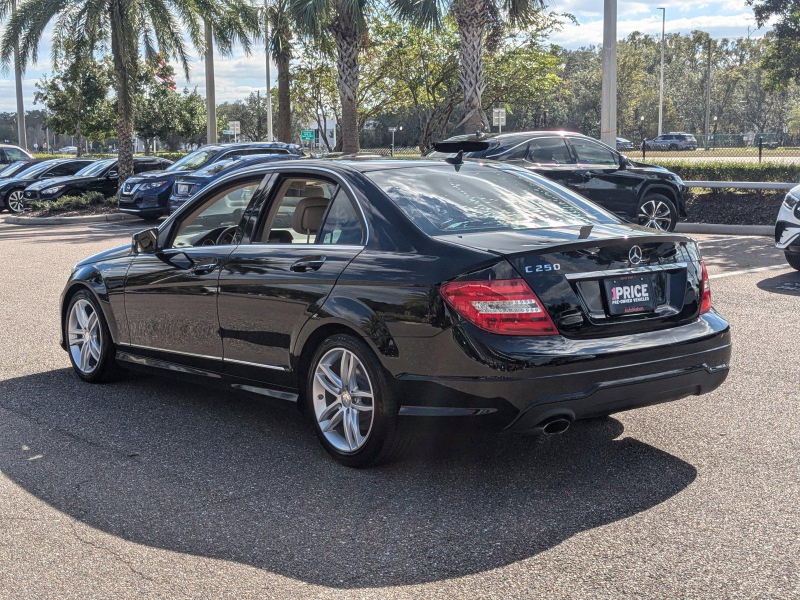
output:
[{"label": "dark mulch bed under the metal rail at right", "polygon": [[774,225],[786,192],[777,190],[690,190],[688,222]]}]

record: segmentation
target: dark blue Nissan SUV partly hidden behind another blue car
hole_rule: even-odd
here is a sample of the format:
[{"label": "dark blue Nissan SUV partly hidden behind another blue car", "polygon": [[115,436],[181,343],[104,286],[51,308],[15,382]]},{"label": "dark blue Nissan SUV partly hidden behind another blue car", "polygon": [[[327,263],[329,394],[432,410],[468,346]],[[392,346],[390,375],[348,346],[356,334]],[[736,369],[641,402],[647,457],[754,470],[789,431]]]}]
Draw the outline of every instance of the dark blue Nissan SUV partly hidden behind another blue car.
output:
[{"label": "dark blue Nissan SUV partly hidden behind another blue car", "polygon": [[254,154],[273,154],[285,158],[304,156],[300,146],[282,142],[240,142],[202,146],[173,162],[165,170],[127,178],[117,194],[119,211],[135,214],[146,221],[154,221],[169,214],[170,194],[178,177],[234,156],[241,158]]}]

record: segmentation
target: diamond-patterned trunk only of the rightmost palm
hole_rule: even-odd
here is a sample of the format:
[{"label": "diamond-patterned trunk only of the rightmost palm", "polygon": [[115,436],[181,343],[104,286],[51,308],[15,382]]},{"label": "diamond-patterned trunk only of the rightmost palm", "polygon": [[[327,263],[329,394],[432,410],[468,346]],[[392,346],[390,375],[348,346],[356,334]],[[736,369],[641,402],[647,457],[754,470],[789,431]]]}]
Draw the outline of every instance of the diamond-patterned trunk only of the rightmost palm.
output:
[{"label": "diamond-patterned trunk only of the rightmost palm", "polygon": [[489,130],[489,122],[481,108],[486,90],[483,74],[483,35],[486,32],[485,0],[461,0],[455,10],[458,34],[461,37],[461,70],[458,81],[464,90],[464,117],[459,123],[466,134]]}]

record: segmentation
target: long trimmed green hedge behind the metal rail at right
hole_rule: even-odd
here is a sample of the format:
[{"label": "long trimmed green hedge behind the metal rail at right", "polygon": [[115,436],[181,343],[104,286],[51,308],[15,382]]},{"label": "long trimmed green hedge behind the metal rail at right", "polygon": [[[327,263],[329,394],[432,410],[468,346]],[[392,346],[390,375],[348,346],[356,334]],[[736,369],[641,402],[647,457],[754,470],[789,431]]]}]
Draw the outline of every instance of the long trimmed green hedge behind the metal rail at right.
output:
[{"label": "long trimmed green hedge behind the metal rail at right", "polygon": [[[650,163],[650,160],[645,162]],[[800,182],[800,163],[745,161],[687,161],[657,158],[663,166],[692,182]]]}]

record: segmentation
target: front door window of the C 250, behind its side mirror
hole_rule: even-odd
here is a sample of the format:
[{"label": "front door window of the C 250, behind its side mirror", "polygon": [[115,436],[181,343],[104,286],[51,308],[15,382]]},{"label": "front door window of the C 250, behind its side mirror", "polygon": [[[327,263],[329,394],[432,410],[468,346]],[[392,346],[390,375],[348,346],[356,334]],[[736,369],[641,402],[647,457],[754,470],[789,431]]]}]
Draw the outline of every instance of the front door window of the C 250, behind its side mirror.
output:
[{"label": "front door window of the C 250, behind its side mirror", "polygon": [[178,224],[170,248],[226,246],[234,243],[242,214],[260,183],[261,180],[239,183],[202,202]]}]

